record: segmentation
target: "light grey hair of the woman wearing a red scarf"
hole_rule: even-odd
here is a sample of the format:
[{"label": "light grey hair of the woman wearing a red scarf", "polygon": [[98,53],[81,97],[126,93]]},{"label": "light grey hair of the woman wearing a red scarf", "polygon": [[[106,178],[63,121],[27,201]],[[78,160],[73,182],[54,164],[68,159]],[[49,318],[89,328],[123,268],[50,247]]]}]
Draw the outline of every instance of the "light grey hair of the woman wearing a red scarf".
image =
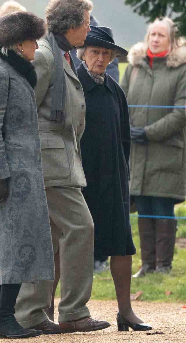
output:
[{"label": "light grey hair of the woman wearing a red scarf", "polygon": [[162,17],[162,19],[156,19],[147,28],[147,33],[145,35],[145,49],[148,49],[149,35],[154,24],[164,24],[167,26],[168,35],[170,40],[169,52],[174,51],[178,46],[181,45],[181,39],[178,37],[178,28],[174,22],[168,17]]}]

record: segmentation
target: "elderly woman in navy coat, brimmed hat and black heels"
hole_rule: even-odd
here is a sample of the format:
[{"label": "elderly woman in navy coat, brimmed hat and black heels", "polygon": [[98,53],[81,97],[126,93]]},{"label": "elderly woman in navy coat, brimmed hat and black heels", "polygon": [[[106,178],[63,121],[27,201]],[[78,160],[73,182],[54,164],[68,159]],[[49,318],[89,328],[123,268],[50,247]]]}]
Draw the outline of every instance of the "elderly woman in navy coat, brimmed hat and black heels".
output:
[{"label": "elderly woman in navy coat, brimmed hat and black heels", "polygon": [[130,124],[127,100],[105,69],[118,54],[108,27],[91,26],[77,69],[86,101],[86,127],[81,139],[82,163],[88,186],[83,194],[95,225],[94,256],[111,256],[110,270],[118,300],[118,330],[152,329],[133,312],[130,303],[132,255],[130,225]]}]

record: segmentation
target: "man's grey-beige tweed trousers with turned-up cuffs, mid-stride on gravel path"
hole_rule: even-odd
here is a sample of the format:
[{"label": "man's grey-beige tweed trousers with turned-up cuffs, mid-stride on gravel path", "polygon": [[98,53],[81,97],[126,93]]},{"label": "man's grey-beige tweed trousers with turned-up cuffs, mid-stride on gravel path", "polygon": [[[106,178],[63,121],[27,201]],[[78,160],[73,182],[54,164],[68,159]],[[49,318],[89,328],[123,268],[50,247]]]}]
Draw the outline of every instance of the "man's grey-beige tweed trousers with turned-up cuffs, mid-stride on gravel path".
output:
[{"label": "man's grey-beige tweed trousers with turned-up cuffs, mid-stride on gravel path", "polygon": [[[61,301],[59,322],[90,316],[86,303],[93,281],[94,224],[79,187],[47,187],[54,255],[59,247]],[[44,239],[44,237],[43,237]],[[48,319],[52,281],[22,284],[15,306],[17,321],[29,328]]]}]

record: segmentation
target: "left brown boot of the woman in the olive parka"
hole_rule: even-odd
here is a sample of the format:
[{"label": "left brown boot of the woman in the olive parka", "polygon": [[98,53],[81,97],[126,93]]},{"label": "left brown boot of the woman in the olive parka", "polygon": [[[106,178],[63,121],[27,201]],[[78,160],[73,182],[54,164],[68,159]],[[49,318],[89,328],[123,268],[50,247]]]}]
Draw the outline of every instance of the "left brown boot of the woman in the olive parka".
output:
[{"label": "left brown boot of the woman in the olive parka", "polygon": [[153,273],[156,262],[156,231],[153,218],[138,217],[138,229],[142,256],[142,268],[133,277],[144,276]]}]

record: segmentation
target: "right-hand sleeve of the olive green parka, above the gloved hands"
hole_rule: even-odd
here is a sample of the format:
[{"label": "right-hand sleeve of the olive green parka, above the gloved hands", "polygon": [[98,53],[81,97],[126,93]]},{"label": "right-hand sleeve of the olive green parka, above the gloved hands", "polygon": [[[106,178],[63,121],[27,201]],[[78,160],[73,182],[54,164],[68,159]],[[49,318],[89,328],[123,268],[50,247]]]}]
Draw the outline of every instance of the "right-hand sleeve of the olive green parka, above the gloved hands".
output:
[{"label": "right-hand sleeve of the olive green parka, above the gloved hands", "polygon": [[[185,106],[186,97],[186,68],[182,69],[176,84],[174,106]],[[184,108],[174,108],[163,118],[153,124],[145,126],[147,137],[150,141],[161,141],[169,138],[186,126]]]}]

